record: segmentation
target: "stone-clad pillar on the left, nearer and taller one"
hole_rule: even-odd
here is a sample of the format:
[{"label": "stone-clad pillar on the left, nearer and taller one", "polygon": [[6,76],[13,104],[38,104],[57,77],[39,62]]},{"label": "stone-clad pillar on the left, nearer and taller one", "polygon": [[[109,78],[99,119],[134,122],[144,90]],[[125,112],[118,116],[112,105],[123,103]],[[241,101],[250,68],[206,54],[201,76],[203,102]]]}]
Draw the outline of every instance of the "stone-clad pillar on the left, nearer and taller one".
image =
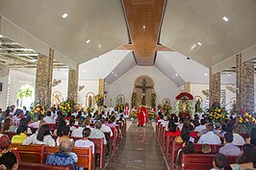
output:
[{"label": "stone-clad pillar on the left, nearer and taller one", "polygon": [[35,102],[51,106],[52,73],[54,50],[49,49],[49,57],[38,55]]}]

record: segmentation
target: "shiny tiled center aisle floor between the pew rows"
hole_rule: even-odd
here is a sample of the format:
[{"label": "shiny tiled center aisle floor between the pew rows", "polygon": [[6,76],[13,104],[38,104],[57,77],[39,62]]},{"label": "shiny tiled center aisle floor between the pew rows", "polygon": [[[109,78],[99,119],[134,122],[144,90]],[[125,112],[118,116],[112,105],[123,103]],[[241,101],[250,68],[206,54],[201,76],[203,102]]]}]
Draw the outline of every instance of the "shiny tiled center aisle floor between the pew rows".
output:
[{"label": "shiny tiled center aisle floor between the pew rows", "polygon": [[133,123],[121,140],[105,170],[166,170],[151,123],[139,128]]}]

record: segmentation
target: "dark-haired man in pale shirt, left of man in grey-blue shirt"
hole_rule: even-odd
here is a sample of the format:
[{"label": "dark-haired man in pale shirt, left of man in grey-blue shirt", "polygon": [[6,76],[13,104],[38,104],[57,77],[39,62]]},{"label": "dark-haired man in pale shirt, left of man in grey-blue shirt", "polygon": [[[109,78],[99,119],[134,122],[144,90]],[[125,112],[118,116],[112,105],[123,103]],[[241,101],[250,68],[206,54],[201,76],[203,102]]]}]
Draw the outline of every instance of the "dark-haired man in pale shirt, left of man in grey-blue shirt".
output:
[{"label": "dark-haired man in pale shirt, left of man in grey-blue shirt", "polygon": [[214,126],[211,123],[206,124],[206,134],[202,134],[197,143],[199,144],[221,144],[217,134],[214,134]]}]

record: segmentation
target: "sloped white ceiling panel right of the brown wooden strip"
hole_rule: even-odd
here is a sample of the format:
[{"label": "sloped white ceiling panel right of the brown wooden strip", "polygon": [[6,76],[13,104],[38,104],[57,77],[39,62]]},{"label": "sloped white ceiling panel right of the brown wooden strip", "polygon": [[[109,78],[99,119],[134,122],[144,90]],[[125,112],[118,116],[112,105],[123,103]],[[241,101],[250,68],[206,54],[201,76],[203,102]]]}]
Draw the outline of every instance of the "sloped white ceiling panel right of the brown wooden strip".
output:
[{"label": "sloped white ceiling panel right of the brown wooden strip", "polygon": [[256,1],[168,0],[160,42],[213,66],[256,43]]}]

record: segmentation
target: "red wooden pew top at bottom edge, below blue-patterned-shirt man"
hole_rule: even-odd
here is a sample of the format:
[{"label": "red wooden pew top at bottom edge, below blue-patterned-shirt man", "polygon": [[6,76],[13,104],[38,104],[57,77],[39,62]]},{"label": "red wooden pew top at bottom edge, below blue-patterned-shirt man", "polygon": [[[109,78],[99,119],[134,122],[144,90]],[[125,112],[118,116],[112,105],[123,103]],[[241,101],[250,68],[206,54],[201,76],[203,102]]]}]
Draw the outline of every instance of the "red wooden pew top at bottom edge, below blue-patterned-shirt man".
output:
[{"label": "red wooden pew top at bottom edge, below blue-patterned-shirt man", "polygon": [[72,165],[70,166],[57,166],[57,165],[46,165],[40,163],[26,163],[19,162],[18,170],[73,170]]}]

